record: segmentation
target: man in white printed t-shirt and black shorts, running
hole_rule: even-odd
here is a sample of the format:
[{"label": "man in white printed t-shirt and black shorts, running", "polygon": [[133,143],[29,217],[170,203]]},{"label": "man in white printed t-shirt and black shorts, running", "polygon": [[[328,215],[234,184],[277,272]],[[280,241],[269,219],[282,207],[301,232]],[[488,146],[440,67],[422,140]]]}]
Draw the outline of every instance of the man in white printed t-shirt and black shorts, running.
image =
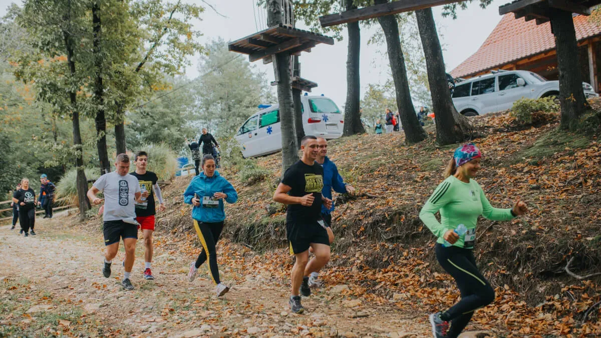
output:
[{"label": "man in white printed t-shirt and black shorts, running", "polygon": [[[119,241],[123,239],[125,247],[125,275],[121,286],[126,290],[133,290],[129,280],[135,259],[136,241],[138,240],[138,223],[136,222],[135,202],[141,203],[142,197],[148,197],[148,191],[142,194],[138,179],[129,174],[129,156],[117,155],[115,162],[117,170],[104,174],[94,182],[88,190],[88,198],[93,204],[105,201],[102,214],[103,232],[105,236],[105,265],[102,274],[111,276],[112,259],[117,256]],[[105,198],[98,198],[96,194],[102,191]]]}]

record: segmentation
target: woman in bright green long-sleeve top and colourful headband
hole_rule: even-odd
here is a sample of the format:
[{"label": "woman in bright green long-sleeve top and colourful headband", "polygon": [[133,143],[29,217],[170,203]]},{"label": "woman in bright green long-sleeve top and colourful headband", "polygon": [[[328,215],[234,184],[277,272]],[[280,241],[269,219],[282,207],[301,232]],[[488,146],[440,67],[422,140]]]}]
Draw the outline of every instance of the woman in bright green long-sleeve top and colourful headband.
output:
[{"label": "woman in bright green long-sleeve top and colourful headband", "polygon": [[[459,303],[430,315],[435,338],[459,336],[474,311],[495,300],[495,290],[478,271],[472,253],[478,217],[509,221],[528,212],[526,204],[519,199],[513,209],[490,205],[478,182],[472,179],[480,170],[481,158],[480,150],[473,143],[457,148],[445,171],[446,179],[419,212],[419,218],[438,237],[436,259],[453,276],[461,292]],[[435,217],[438,211],[440,222]],[[454,231],[459,224],[467,228],[463,236]],[[450,246],[445,246],[445,242]]]}]

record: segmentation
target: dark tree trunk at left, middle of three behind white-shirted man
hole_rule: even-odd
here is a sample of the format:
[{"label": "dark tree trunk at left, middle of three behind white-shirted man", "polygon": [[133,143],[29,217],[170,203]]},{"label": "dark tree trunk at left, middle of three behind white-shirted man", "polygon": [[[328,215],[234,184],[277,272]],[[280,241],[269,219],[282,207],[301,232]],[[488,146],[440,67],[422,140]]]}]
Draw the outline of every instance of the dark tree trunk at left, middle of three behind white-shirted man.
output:
[{"label": "dark tree trunk at left, middle of three behind white-shirted man", "polygon": [[102,84],[102,61],[103,57],[100,51],[100,1],[94,1],[92,4],[92,23],[94,25],[94,67],[96,67],[96,81],[94,82],[94,100],[98,111],[96,111],[96,147],[98,149],[98,158],[100,160],[100,174],[106,174],[111,171],[111,162],[106,150],[106,118],[104,87]]}]

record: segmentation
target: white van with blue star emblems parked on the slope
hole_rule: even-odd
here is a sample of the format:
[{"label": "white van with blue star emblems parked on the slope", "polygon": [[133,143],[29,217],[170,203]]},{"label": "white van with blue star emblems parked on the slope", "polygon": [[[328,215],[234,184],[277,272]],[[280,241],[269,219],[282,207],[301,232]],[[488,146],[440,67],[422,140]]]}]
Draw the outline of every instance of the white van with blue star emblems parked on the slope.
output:
[{"label": "white van with blue star emblems parked on the slope", "polygon": [[[259,108],[264,108],[260,105]],[[344,115],[334,101],[323,96],[301,96],[301,111],[305,135],[326,140],[342,136]],[[245,158],[267,155],[282,149],[279,105],[255,112],[238,129],[236,140]]]}]

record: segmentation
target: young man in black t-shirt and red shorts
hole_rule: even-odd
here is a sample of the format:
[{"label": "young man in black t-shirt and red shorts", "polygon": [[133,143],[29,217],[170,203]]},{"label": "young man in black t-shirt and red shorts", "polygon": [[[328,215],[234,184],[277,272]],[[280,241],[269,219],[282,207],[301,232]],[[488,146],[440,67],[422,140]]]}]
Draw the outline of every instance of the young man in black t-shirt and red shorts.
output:
[{"label": "young man in black t-shirt and red shorts", "polygon": [[[144,278],[147,280],[154,280],[152,272],[150,270],[150,263],[152,263],[152,234],[154,232],[154,215],[156,209],[154,207],[154,195],[159,200],[159,211],[165,210],[165,204],[163,203],[163,197],[160,194],[160,188],[157,184],[159,177],[156,176],[152,171],[147,171],[148,165],[148,153],[138,152],[136,153],[133,164],[136,165],[136,171],[130,173],[130,175],[138,178],[140,183],[140,190],[142,191],[141,203],[136,202],[136,221],[140,224],[142,234],[144,235]],[[144,197],[144,192],[148,193],[147,197]]]}]

